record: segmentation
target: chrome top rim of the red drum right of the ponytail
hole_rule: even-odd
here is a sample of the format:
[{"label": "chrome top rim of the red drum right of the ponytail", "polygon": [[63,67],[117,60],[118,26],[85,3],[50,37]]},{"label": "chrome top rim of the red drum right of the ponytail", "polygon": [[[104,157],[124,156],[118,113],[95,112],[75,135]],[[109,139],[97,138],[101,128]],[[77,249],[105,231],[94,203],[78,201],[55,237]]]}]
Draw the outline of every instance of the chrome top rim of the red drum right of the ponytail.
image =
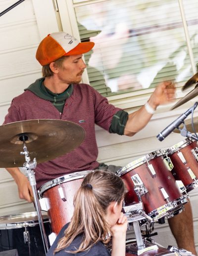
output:
[{"label": "chrome top rim of the red drum right of the ponytail", "polygon": [[130,162],[126,166],[120,168],[119,170],[117,170],[116,175],[122,176],[122,175],[130,172],[131,170],[141,166],[142,164],[146,163],[147,161],[152,160],[152,159],[162,156],[162,155],[164,155],[164,151],[161,149],[152,151],[152,152]]}]

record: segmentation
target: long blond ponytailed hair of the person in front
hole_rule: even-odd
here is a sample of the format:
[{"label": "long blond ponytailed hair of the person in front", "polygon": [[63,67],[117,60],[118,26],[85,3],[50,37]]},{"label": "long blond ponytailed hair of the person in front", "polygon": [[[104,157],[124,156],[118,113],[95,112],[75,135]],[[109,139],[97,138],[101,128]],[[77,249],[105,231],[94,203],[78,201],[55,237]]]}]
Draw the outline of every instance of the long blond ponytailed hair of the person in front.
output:
[{"label": "long blond ponytailed hair of the person in front", "polygon": [[83,238],[79,248],[69,253],[86,251],[99,241],[108,243],[110,227],[106,210],[111,202],[120,203],[124,194],[125,186],[120,177],[107,171],[89,173],[74,197],[73,217],[54,253],[68,247],[80,234]]}]

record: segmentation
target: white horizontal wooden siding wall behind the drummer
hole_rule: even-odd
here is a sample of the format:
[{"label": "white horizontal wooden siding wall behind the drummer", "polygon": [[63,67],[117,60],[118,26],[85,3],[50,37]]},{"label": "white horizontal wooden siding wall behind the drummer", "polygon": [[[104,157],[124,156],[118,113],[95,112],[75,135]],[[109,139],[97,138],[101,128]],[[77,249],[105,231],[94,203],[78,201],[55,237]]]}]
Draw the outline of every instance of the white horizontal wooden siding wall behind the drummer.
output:
[{"label": "white horizontal wooden siding wall behind the drummer", "polygon": [[[4,10],[15,0],[1,0],[0,11]],[[48,6],[48,8],[45,8]],[[47,11],[49,9],[49,11]],[[64,26],[63,26],[64,27]],[[23,92],[30,83],[41,76],[41,66],[35,59],[37,46],[44,36],[58,30],[51,1],[26,0],[0,18],[0,123],[10,105],[11,99]],[[117,100],[110,97],[111,103],[131,112],[143,105],[148,94],[139,98],[127,96],[127,99]],[[183,94],[178,92],[179,97]],[[96,127],[99,145],[99,161],[107,164],[125,166],[156,149],[169,148],[183,140],[179,134],[170,134],[163,142],[156,135],[169,123],[176,119],[194,101],[168,112],[170,106],[161,107],[153,116],[146,128],[133,137],[109,135],[108,132]],[[28,106],[27,106],[28,108]],[[197,113],[196,113],[197,114]],[[13,134],[14,135],[14,134]],[[0,169],[0,216],[34,210],[32,204],[18,198],[17,187],[11,176]],[[193,205],[196,246],[198,246],[198,190],[191,192]],[[173,244],[167,224],[156,225],[158,236],[155,241],[167,247]]]}]

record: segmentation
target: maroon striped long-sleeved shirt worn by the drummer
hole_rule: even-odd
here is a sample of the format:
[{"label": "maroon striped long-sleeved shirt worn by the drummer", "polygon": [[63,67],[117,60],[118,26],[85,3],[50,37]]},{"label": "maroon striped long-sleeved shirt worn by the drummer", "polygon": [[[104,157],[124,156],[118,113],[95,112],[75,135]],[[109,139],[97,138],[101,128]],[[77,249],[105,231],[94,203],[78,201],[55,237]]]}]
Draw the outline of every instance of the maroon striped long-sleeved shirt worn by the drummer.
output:
[{"label": "maroon striped long-sleeved shirt worn by the drummer", "polygon": [[[109,130],[113,115],[119,110],[121,109],[108,104],[107,99],[90,85],[74,84],[73,93],[66,99],[62,114],[51,102],[27,90],[12,100],[4,124],[31,119],[62,119],[74,122],[85,129],[85,139],[78,148],[37,165],[35,177],[39,189],[46,182],[65,174],[97,168],[99,163],[95,123]],[[85,122],[79,123],[80,120]]]}]

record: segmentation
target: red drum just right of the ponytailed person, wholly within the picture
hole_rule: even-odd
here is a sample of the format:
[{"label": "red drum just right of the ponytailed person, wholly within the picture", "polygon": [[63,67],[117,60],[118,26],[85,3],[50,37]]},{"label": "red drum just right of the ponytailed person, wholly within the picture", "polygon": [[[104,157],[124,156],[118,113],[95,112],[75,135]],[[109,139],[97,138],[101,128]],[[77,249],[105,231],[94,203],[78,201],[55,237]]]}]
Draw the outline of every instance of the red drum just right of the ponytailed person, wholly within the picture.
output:
[{"label": "red drum just right of the ponytailed person, wholly within the picture", "polygon": [[125,205],[139,202],[135,186],[142,188],[141,200],[145,212],[153,219],[172,214],[187,200],[176,185],[176,181],[164,160],[161,150],[149,153],[117,171],[127,188]]}]

